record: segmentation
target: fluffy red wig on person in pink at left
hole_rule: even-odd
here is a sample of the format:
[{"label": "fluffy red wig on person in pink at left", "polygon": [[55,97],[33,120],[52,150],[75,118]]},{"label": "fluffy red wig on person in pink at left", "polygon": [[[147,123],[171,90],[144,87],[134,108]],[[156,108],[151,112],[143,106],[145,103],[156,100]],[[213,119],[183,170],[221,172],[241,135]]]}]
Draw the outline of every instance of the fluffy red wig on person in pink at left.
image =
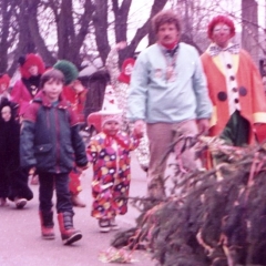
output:
[{"label": "fluffy red wig on person in pink at left", "polygon": [[21,76],[24,79],[29,79],[31,76],[29,68],[32,65],[38,66],[39,74],[42,74],[45,71],[45,65],[42,58],[34,53],[28,53],[25,57],[20,57],[19,63]]}]

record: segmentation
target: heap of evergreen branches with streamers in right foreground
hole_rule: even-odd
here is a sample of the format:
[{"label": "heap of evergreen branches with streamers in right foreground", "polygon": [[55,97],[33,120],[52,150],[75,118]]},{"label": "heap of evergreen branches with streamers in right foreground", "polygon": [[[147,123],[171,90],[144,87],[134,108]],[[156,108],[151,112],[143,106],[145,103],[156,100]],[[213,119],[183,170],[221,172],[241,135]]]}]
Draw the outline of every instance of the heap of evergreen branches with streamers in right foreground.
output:
[{"label": "heap of evergreen branches with streamers in right foreground", "polygon": [[112,245],[145,248],[163,266],[266,265],[266,145],[241,149],[207,137],[191,143],[219,163],[205,172],[176,171],[163,201],[134,198],[149,208]]}]

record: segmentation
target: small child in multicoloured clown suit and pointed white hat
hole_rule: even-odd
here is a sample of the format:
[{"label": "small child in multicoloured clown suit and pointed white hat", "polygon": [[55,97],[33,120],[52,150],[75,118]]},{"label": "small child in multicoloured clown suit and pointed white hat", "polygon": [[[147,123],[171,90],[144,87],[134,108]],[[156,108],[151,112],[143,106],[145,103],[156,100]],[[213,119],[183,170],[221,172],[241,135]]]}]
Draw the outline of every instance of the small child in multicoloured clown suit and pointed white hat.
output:
[{"label": "small child in multicoloured clown suit and pointed white hat", "polygon": [[[115,108],[112,91],[105,91],[103,109],[91,116],[101,131],[88,146],[89,161],[93,164],[92,212],[99,219],[100,232],[117,229],[116,215],[127,212],[131,183],[130,152],[140,143],[141,134],[127,135],[121,129],[121,111]],[[101,129],[99,129],[99,126]]]}]

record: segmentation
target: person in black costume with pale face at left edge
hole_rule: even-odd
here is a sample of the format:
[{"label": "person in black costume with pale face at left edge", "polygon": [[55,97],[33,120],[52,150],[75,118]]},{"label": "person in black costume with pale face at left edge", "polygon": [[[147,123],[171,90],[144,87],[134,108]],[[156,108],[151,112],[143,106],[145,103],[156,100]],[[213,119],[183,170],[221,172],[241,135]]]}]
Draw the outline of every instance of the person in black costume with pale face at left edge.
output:
[{"label": "person in black costume with pale face at left edge", "polygon": [[33,193],[28,186],[28,174],[20,167],[20,124],[17,120],[18,105],[8,98],[0,99],[0,206],[7,198],[23,208]]}]

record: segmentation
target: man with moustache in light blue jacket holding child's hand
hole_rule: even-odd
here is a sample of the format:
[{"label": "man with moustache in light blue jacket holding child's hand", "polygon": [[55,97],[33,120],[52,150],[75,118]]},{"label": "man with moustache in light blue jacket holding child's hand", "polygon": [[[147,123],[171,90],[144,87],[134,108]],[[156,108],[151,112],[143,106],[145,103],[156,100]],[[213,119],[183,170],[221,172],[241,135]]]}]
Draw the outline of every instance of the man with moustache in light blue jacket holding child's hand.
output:
[{"label": "man with moustache in light blue jacket holding child's hand", "polygon": [[[212,103],[196,49],[180,42],[177,16],[161,11],[153,18],[153,28],[157,42],[137,57],[131,76],[127,116],[139,131],[147,124],[151,153],[147,194],[162,198],[171,144],[181,135],[207,132]],[[177,156],[180,151],[177,143]],[[185,151],[182,158],[186,170],[196,168],[193,150]]]}]

